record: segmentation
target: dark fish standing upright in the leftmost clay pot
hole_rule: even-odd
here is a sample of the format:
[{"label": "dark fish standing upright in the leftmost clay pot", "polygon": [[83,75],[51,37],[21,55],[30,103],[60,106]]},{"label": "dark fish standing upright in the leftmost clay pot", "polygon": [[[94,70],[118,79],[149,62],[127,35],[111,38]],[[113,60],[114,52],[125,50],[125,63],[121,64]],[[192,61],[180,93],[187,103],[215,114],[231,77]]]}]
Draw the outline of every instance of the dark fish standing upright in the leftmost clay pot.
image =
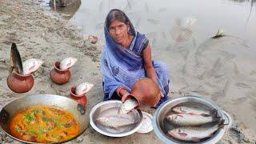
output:
[{"label": "dark fish standing upright in the leftmost clay pot", "polygon": [[15,43],[12,43],[10,47],[9,73],[11,74],[13,71],[17,72],[18,74],[23,74],[22,58],[18,52],[18,49]]}]

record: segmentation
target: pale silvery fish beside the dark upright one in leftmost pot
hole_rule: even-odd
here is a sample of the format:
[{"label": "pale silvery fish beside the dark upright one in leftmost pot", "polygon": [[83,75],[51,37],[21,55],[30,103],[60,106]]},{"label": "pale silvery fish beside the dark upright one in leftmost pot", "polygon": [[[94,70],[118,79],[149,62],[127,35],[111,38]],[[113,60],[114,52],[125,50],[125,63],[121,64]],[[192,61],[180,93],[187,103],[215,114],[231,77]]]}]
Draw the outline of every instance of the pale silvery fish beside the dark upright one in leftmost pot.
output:
[{"label": "pale silvery fish beside the dark upright one in leftmost pot", "polygon": [[38,70],[42,63],[42,60],[38,58],[27,59],[25,62],[22,62],[23,74],[33,73],[35,70]]}]

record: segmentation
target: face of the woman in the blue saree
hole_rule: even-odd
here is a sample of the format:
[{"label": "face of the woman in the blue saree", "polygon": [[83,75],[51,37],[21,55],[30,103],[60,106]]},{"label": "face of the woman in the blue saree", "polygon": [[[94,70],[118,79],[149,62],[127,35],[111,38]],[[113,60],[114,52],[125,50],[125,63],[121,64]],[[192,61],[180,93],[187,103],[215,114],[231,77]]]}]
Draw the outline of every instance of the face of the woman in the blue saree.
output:
[{"label": "face of the woman in the blue saree", "polygon": [[128,38],[128,25],[118,20],[113,20],[109,27],[110,36],[114,38],[114,41],[122,45]]}]

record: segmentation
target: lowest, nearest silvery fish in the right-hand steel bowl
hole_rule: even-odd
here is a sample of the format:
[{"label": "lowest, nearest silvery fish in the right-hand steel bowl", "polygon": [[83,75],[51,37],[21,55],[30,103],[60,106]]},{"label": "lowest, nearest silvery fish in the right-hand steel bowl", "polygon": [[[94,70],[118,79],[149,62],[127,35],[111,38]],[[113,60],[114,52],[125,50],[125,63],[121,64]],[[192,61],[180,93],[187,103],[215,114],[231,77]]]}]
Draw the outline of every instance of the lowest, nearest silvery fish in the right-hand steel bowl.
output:
[{"label": "lowest, nearest silvery fish in the right-hand steel bowl", "polygon": [[223,128],[224,120],[211,127],[182,126],[168,131],[174,138],[183,141],[199,142],[202,138],[211,137],[218,128]]}]

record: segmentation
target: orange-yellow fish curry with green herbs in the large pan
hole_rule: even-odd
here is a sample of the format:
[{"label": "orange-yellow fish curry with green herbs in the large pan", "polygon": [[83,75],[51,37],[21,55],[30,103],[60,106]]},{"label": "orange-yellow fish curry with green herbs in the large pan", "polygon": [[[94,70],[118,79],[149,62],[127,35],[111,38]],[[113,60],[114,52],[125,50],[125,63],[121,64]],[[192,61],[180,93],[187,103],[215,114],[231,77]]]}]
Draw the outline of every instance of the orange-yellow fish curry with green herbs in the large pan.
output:
[{"label": "orange-yellow fish curry with green herbs in the large pan", "polygon": [[62,142],[78,134],[74,115],[54,106],[30,106],[10,122],[10,133],[29,142]]}]

